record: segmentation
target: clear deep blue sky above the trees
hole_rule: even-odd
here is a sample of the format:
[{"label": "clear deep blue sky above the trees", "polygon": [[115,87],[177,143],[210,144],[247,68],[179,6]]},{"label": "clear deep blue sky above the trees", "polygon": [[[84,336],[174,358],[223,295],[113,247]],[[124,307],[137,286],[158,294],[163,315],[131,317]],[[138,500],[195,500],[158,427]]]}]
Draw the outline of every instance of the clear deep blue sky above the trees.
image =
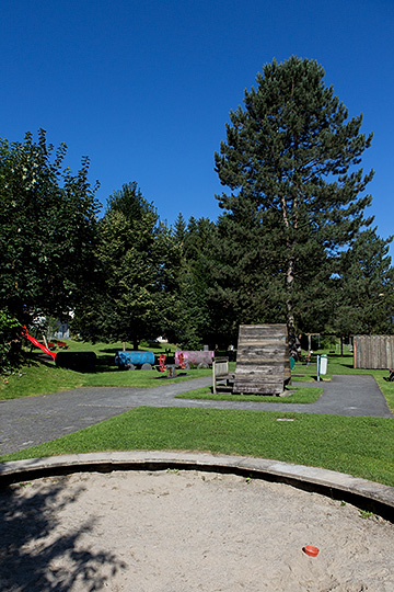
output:
[{"label": "clear deep blue sky above the trees", "polygon": [[219,214],[213,153],[263,65],[316,59],[374,133],[379,234],[393,232],[393,0],[1,0],[0,137],[39,127],[91,159],[97,197],[137,181],[173,224]]}]

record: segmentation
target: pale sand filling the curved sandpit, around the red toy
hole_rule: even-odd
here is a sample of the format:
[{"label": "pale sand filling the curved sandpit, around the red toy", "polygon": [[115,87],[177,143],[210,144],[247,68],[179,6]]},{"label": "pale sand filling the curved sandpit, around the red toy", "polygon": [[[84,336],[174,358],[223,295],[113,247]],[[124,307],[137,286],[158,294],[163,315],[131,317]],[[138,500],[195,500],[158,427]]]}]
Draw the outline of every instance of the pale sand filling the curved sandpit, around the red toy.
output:
[{"label": "pale sand filling the curved sandpit, around the red toy", "polygon": [[42,478],[0,493],[0,590],[393,592],[394,525],[361,514],[234,475]]}]

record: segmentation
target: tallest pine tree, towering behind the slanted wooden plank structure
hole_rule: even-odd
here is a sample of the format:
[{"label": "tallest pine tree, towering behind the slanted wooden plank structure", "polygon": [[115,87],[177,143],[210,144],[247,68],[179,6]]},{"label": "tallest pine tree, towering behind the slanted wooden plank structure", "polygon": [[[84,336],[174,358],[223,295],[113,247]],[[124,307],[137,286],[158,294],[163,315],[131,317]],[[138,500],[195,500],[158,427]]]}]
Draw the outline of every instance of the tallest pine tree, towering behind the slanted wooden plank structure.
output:
[{"label": "tallest pine tree, towering behind the slanted wooden plank structure", "polygon": [[[254,321],[285,318],[293,342],[297,327],[324,323],[331,262],[371,223],[363,217],[371,202],[363,192],[373,172],[357,166],[372,135],[360,132],[362,115],[348,119],[314,60],[274,60],[256,82],[245,91],[244,109],[230,112],[227,141],[215,155],[219,179],[231,190],[217,196],[224,210],[222,250],[224,260],[232,251],[236,261],[235,306],[246,306]],[[254,316],[253,286],[268,296],[270,312],[262,301]]]}]

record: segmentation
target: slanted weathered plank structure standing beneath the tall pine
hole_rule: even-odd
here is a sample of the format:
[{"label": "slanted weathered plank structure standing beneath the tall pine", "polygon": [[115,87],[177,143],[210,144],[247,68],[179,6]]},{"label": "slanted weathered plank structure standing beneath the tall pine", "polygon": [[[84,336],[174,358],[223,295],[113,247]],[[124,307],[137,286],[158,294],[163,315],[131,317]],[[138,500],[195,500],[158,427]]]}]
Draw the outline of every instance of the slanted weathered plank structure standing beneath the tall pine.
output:
[{"label": "slanted weathered plank structure standing beneath the tall pine", "polygon": [[286,325],[241,325],[233,392],[281,395],[290,378]]}]

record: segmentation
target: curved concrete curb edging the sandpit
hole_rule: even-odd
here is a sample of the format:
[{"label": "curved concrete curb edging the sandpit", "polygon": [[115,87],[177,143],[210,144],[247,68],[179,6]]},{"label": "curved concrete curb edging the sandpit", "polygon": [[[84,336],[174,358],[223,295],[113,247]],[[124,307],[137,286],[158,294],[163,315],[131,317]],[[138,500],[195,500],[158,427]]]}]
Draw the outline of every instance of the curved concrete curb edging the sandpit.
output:
[{"label": "curved concrete curb edging the sandpit", "polygon": [[344,500],[394,522],[394,488],[317,467],[250,456],[189,452],[131,451],[30,458],[0,464],[0,487],[49,475],[79,471],[163,470],[178,468],[233,473],[287,483]]}]

